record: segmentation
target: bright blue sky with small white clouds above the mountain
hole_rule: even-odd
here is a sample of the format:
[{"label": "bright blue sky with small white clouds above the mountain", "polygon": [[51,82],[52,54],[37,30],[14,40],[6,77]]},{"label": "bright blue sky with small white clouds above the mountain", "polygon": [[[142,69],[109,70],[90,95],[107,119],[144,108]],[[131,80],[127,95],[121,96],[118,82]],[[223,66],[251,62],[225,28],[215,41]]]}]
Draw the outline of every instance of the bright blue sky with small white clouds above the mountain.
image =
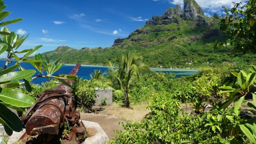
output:
[{"label": "bright blue sky with small white clouds above the mountain", "polygon": [[[196,0],[207,16],[222,13],[235,0]],[[153,15],[162,15],[183,0],[5,0],[12,12],[5,20],[23,18],[8,25],[19,34],[30,34],[22,49],[44,45],[37,52],[66,45],[72,48],[109,47],[144,26]]]}]

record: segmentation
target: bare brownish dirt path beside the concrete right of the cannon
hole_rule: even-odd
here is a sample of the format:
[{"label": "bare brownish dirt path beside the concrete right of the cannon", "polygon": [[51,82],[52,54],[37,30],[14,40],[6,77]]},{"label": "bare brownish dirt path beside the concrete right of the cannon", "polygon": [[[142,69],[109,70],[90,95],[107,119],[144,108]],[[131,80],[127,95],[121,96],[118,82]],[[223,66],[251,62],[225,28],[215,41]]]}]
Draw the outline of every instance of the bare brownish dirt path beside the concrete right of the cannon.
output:
[{"label": "bare brownish dirt path beside the concrete right of the cannon", "polygon": [[101,128],[106,132],[109,139],[115,137],[114,130],[123,130],[118,122],[127,122],[126,120],[116,118],[114,116],[106,116],[100,114],[81,114],[81,120],[90,122],[98,122]]}]

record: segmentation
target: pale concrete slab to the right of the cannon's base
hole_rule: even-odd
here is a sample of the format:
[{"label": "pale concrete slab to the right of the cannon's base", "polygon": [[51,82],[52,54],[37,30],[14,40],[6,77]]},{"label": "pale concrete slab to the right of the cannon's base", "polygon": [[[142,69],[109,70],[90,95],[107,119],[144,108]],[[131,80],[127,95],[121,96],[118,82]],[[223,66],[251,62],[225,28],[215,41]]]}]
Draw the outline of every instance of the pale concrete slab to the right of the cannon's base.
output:
[{"label": "pale concrete slab to the right of the cannon's base", "polygon": [[104,144],[104,142],[108,140],[107,134],[97,122],[89,122],[86,120],[82,120],[82,122],[86,129],[92,130],[94,133],[92,137],[86,138],[82,144]]}]

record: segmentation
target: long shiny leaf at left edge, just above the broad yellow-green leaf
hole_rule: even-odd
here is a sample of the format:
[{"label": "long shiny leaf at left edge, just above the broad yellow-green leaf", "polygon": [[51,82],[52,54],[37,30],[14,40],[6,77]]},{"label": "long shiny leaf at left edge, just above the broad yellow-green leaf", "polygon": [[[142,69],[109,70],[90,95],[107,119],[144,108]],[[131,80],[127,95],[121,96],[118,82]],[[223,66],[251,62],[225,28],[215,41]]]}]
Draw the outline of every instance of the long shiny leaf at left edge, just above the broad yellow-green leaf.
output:
[{"label": "long shiny leaf at left edge, just above the broad yellow-green leaf", "polygon": [[33,76],[36,73],[35,70],[23,70],[18,72],[9,72],[0,76],[0,82],[12,81],[12,80],[20,80],[23,78],[27,78]]}]

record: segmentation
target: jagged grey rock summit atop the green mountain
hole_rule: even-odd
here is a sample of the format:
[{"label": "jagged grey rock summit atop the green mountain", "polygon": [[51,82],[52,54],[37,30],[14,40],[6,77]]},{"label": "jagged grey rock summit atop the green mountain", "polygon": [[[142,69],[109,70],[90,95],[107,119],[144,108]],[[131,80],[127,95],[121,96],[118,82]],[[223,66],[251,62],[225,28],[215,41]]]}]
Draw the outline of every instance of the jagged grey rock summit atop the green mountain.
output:
[{"label": "jagged grey rock summit atop the green mountain", "polygon": [[177,5],[176,8],[171,7],[162,16],[153,16],[151,20],[146,22],[146,25],[179,24],[179,18],[196,21],[198,22],[197,26],[209,25],[204,16],[204,11],[195,0],[184,0],[184,11],[182,11],[180,5]]}]

